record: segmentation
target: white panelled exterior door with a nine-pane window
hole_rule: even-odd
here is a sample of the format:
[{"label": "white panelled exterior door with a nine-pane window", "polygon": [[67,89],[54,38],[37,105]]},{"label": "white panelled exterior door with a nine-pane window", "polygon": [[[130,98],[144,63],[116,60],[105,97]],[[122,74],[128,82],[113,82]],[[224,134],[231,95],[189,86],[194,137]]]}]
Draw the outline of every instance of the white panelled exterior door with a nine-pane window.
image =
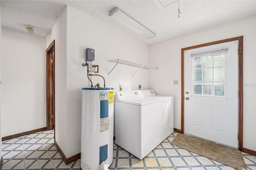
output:
[{"label": "white panelled exterior door with a nine-pane window", "polygon": [[238,148],[238,41],[184,51],[184,132]]}]

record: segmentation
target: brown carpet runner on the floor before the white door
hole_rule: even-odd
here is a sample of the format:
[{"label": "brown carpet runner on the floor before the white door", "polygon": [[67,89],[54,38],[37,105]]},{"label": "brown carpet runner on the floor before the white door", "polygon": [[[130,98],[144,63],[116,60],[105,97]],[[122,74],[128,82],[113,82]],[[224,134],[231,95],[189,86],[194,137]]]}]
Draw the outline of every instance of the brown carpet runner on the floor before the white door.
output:
[{"label": "brown carpet runner on the floor before the white door", "polygon": [[247,169],[240,150],[181,133],[174,138],[172,144],[234,169]]}]

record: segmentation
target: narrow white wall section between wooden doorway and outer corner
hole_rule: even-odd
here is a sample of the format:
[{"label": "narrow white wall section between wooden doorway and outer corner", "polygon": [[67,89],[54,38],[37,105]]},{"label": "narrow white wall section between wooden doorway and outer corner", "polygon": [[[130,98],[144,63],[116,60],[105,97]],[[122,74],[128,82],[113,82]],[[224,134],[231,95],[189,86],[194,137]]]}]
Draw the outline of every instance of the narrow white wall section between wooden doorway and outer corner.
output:
[{"label": "narrow white wall section between wooden doorway and outer corner", "polygon": [[[55,40],[55,140],[67,157],[67,9],[47,37],[47,47]],[[68,157],[67,157],[68,158]]]}]

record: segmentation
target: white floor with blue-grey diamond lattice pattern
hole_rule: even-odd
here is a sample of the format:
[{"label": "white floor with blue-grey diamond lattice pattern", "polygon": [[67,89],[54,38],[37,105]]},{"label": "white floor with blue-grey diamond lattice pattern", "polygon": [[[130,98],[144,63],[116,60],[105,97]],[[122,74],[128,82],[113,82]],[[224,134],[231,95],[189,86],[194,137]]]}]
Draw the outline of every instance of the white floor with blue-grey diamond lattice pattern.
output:
[{"label": "white floor with blue-grey diamond lattice pattern", "polygon": [[[171,134],[143,160],[114,144],[110,170],[233,170],[170,144],[176,134]],[[256,170],[256,156],[243,152],[242,155],[248,170]],[[64,163],[54,146],[53,130],[3,141],[2,156],[2,170],[81,170],[80,160]]]}]

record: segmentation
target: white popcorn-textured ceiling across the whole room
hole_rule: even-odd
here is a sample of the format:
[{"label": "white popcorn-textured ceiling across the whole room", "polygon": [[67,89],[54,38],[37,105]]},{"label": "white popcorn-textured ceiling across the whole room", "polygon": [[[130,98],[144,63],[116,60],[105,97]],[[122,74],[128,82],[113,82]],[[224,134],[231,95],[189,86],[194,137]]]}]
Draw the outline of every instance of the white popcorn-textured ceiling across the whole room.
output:
[{"label": "white popcorn-textured ceiling across the whole room", "polygon": [[[24,31],[34,26],[35,35],[46,37],[66,5],[72,6],[147,44],[214,27],[256,14],[256,0],[180,0],[161,10],[152,0],[1,0],[2,26]],[[150,40],[108,17],[113,8],[151,30]]]}]

